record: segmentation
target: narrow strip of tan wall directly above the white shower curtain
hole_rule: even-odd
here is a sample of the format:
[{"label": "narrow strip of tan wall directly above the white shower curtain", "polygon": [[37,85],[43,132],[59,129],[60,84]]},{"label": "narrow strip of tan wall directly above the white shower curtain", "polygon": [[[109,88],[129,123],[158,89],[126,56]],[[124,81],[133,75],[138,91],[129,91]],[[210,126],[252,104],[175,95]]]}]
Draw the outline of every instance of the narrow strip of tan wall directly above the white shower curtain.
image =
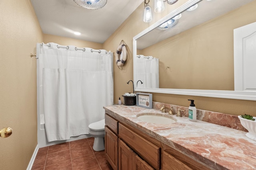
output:
[{"label": "narrow strip of tan wall directly above the white shower curtain", "polygon": [[80,39],[74,39],[74,38],[67,38],[67,37],[61,37],[57,35],[49,35],[49,34],[43,34],[44,40],[43,42],[46,43],[57,43],[59,45],[74,45],[76,47],[88,47],[92,49],[102,49],[103,44],[102,43],[94,43],[90,41],[83,41]]}]

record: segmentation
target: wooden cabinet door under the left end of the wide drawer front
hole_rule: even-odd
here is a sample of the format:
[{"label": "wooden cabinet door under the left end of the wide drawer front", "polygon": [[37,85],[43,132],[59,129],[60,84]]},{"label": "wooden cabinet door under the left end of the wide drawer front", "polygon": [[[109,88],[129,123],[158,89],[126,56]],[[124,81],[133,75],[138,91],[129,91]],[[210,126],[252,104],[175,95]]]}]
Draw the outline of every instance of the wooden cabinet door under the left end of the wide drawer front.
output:
[{"label": "wooden cabinet door under the left end of the wide drawer front", "polygon": [[118,139],[118,168],[119,170],[132,169],[132,149],[124,141]]}]

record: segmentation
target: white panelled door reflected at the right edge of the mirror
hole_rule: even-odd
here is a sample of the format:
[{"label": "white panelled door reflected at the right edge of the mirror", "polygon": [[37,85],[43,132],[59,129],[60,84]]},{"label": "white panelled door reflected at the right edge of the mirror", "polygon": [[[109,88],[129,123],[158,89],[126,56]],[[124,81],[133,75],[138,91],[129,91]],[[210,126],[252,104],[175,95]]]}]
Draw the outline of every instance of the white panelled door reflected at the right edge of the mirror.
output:
[{"label": "white panelled door reflected at the right edge of the mirror", "polygon": [[234,90],[256,90],[256,22],[234,29]]}]

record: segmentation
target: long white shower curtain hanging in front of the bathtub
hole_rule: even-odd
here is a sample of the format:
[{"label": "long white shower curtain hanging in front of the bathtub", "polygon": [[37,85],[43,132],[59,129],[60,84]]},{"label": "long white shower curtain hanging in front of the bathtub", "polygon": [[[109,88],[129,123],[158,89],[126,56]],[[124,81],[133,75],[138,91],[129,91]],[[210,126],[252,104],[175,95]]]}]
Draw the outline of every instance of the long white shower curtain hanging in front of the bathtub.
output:
[{"label": "long white shower curtain hanging in front of the bathtub", "polygon": [[[38,110],[48,142],[88,134],[113,103],[112,57],[105,50],[37,44]],[[42,116],[43,115],[43,116]]]}]

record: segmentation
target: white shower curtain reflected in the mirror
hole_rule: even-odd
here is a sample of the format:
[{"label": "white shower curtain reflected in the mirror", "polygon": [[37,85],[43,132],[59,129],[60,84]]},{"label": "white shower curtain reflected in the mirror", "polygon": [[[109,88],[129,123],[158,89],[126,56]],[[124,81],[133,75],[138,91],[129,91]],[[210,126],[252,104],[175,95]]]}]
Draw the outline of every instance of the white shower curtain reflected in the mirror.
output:
[{"label": "white shower curtain reflected in the mirror", "polygon": [[[143,84],[138,80],[141,80]],[[159,88],[159,59],[152,56],[137,55],[136,81],[138,88]]]}]

